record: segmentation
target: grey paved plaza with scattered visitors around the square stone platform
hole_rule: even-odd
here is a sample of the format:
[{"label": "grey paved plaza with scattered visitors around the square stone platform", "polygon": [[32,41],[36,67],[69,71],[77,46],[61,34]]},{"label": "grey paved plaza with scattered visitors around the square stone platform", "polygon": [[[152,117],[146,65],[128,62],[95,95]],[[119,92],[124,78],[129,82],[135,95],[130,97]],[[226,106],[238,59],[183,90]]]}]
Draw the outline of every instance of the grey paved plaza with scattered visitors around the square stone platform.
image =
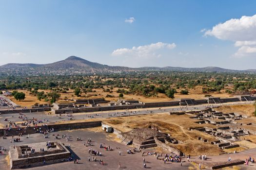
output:
[{"label": "grey paved plaza with scattered visitors around the square stone platform", "polygon": [[[32,134],[27,138],[27,135],[20,137],[20,142],[15,144],[29,144],[29,143],[36,143],[42,141],[49,141],[55,140],[55,136],[59,134],[59,139],[61,143],[68,148],[68,150],[73,153],[75,159],[79,159],[79,164],[74,164],[74,161],[70,162],[62,162],[58,164],[51,164],[51,165],[43,165],[39,167],[30,168],[31,170],[117,170],[118,163],[120,162],[121,168],[126,170],[141,170],[143,169],[143,158],[145,158],[146,165],[148,169],[152,170],[164,170],[164,169],[173,169],[173,170],[187,170],[189,163],[183,163],[182,167],[180,163],[170,163],[167,162],[164,164],[162,160],[157,160],[154,155],[145,155],[142,157],[141,153],[134,153],[128,154],[127,149],[133,150],[132,147],[125,146],[121,143],[110,141],[106,139],[106,133],[104,132],[91,132],[84,130],[73,130],[73,131],[61,131],[61,132],[54,132],[51,133],[49,138],[44,138],[41,134]],[[68,134],[71,141],[66,141],[66,139],[62,138],[62,135]],[[55,135],[55,136],[53,136]],[[77,137],[81,137],[81,141],[77,141]],[[0,143],[2,146],[9,148],[9,146],[13,146],[14,143],[10,143],[11,136],[7,137],[7,139],[0,139]],[[87,138],[92,139],[91,146],[84,146],[84,142],[87,142]],[[113,151],[105,151],[103,148],[100,148],[100,144],[104,146],[110,146]],[[69,148],[70,145],[70,148]],[[88,157],[90,155],[89,148],[97,150],[102,153],[102,156],[96,156],[97,161],[88,161]],[[9,149],[8,149],[9,150]],[[7,150],[7,152],[8,152]],[[119,155],[119,151],[121,155]],[[146,150],[145,152],[149,152],[150,150]],[[7,154],[7,153],[6,153]],[[4,161],[5,156],[0,156],[0,170],[8,170],[9,166]],[[99,164],[98,160],[103,160],[104,165]],[[185,158],[183,158],[185,160]]]}]

